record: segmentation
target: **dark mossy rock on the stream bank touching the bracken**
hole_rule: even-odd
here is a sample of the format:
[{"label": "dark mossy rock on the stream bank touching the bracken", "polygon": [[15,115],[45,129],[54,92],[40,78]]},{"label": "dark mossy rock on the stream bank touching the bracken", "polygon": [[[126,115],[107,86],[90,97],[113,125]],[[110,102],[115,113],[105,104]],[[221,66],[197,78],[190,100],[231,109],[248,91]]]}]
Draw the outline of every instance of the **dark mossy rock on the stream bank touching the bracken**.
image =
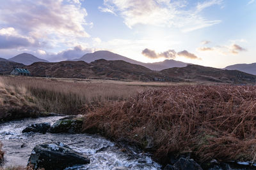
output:
[{"label": "dark mossy rock on the stream bank touching the bracken", "polygon": [[80,133],[83,127],[81,119],[65,119],[56,121],[49,129],[51,133]]}]

